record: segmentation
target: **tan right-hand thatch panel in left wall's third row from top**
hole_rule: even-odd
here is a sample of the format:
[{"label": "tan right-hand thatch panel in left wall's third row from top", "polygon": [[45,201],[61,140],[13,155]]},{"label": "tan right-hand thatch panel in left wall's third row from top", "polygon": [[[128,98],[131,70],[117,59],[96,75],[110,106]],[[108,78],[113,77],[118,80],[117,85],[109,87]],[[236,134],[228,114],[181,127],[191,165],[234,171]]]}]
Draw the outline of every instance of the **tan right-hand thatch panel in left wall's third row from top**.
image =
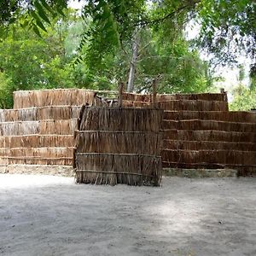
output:
[{"label": "tan right-hand thatch panel in left wall's third row from top", "polygon": [[77,119],[39,121],[39,134],[70,135],[76,129]]}]

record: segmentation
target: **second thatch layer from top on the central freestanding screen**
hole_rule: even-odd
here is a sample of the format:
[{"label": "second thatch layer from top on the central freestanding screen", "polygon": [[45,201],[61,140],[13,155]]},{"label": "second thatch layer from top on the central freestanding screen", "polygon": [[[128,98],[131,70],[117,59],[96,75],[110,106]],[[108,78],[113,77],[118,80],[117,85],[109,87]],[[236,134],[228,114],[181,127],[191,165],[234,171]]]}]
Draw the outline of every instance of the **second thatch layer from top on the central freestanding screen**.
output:
[{"label": "second thatch layer from top on the central freestanding screen", "polygon": [[160,155],[162,135],[143,131],[79,131],[79,153]]}]

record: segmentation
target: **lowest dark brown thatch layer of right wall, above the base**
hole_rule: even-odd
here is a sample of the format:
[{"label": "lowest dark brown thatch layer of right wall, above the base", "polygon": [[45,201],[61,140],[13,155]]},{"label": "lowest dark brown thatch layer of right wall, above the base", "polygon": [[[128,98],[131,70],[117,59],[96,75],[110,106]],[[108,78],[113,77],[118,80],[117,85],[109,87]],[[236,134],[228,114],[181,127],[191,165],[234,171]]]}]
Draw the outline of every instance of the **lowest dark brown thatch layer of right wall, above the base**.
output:
[{"label": "lowest dark brown thatch layer of right wall, above the base", "polygon": [[177,163],[209,163],[220,165],[256,166],[255,151],[238,150],[172,150],[162,151],[162,159]]}]

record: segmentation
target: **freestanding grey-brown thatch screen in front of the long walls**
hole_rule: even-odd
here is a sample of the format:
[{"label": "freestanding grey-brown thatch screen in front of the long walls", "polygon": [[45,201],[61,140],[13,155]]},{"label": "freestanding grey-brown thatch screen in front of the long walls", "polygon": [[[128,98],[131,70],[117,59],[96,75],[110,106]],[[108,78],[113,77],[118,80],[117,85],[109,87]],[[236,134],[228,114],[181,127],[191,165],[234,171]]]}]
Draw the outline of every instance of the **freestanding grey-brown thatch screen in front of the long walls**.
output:
[{"label": "freestanding grey-brown thatch screen in front of the long walls", "polygon": [[162,115],[152,108],[82,108],[77,182],[159,186]]}]

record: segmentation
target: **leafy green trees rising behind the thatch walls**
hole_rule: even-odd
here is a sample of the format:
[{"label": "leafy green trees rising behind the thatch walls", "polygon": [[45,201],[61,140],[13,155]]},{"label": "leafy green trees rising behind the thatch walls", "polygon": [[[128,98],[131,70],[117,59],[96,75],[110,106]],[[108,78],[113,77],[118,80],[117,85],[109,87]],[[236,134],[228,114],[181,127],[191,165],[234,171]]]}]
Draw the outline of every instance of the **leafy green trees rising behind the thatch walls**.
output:
[{"label": "leafy green trees rising behind the thatch walls", "polygon": [[198,45],[214,60],[230,63],[242,52],[253,76],[254,1],[88,0],[82,19],[67,12],[64,21],[65,9],[66,0],[1,2],[5,87],[113,89],[122,80],[147,91],[158,79],[160,92],[204,91],[212,82],[208,65],[183,34],[191,19],[201,24]]}]

